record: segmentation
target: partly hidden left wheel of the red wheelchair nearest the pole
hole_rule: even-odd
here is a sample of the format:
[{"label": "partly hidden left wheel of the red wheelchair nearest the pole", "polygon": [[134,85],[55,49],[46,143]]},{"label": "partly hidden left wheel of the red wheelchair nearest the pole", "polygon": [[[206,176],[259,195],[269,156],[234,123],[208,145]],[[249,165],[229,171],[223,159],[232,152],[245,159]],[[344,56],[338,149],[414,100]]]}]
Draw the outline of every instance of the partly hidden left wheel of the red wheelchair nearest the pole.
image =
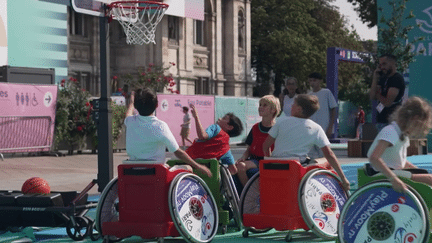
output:
[{"label": "partly hidden left wheel of the red wheelchair nearest the pole", "polygon": [[[118,178],[112,179],[104,188],[96,208],[96,230],[103,236],[102,224],[104,222],[117,222],[118,213]],[[109,236],[110,242],[120,241],[120,238]]]}]

